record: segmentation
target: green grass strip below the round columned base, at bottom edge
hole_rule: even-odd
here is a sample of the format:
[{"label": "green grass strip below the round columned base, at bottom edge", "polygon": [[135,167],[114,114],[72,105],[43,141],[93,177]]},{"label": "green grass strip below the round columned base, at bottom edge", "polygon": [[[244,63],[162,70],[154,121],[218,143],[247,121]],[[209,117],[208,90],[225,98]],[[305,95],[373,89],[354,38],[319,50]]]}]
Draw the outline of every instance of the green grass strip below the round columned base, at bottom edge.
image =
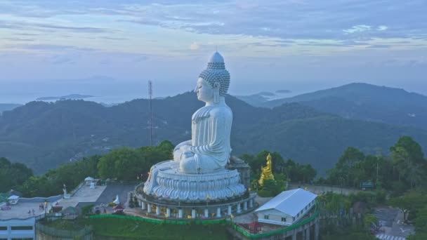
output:
[{"label": "green grass strip below the round columned base, at bottom edge", "polygon": [[98,218],[58,220],[48,225],[69,230],[91,225],[96,236],[115,236],[118,239],[230,239],[225,225],[221,224],[166,225],[121,218]]}]

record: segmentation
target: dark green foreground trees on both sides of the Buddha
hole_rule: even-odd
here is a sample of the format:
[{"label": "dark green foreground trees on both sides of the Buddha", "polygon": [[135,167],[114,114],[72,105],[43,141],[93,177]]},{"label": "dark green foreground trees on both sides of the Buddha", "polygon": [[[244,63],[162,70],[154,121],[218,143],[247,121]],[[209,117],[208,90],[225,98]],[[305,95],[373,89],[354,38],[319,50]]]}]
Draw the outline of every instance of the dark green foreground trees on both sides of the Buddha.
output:
[{"label": "dark green foreground trees on both sides of the Buddha", "polygon": [[[23,164],[12,164],[0,158],[1,192],[15,189],[24,196],[53,196],[62,193],[63,184],[70,189],[77,187],[87,176],[121,181],[136,181],[147,178],[153,164],[171,159],[173,144],[163,141],[152,147],[121,147],[104,155],[94,155],[50,169],[43,175],[33,175]],[[256,182],[265,166],[267,150],[258,154],[239,156],[251,166],[252,182]],[[330,213],[338,213],[342,206],[349,208],[356,201],[364,201],[369,207],[386,204],[400,208],[408,222],[416,227],[416,235],[410,239],[426,239],[427,236],[427,161],[418,142],[408,136],[399,138],[390,147],[390,154],[364,154],[355,147],[348,147],[336,161],[334,168],[327,171],[325,178],[318,178],[310,164],[300,164],[292,159],[284,159],[278,152],[272,155],[272,171],[275,185],[267,187],[269,194],[275,195],[286,189],[287,182],[340,185],[360,188],[361,182],[372,182],[370,191],[343,196],[327,193],[320,196],[322,208]],[[255,186],[251,186],[254,187]],[[259,187],[259,186],[258,186]],[[252,189],[252,190],[254,190]],[[262,193],[260,187],[258,193]],[[265,191],[264,193],[265,194]],[[368,224],[369,225],[369,224]],[[348,235],[357,239],[360,229],[344,227],[327,228],[325,239]],[[367,230],[363,230],[370,239]],[[333,233],[333,234],[332,234]],[[350,235],[349,235],[350,234]]]}]

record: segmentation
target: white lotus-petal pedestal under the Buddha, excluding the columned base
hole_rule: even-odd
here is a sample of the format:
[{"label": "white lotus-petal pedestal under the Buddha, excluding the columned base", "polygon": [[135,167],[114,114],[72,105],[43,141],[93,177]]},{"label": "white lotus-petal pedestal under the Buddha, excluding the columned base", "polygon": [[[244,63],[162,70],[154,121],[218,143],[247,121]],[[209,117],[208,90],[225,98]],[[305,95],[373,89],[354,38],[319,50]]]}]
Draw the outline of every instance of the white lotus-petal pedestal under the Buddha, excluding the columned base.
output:
[{"label": "white lotus-petal pedestal under the Buddha, excluding the columned base", "polygon": [[227,201],[245,194],[237,170],[221,169],[212,173],[179,172],[176,161],[163,161],[152,166],[143,192],[157,199],[201,203]]}]

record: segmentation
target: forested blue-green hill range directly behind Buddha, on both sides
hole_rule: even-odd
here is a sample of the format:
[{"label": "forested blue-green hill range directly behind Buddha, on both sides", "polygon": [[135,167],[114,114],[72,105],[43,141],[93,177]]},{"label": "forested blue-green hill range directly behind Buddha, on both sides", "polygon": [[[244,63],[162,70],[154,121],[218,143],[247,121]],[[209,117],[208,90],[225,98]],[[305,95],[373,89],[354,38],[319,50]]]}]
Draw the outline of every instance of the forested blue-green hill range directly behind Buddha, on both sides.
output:
[{"label": "forested blue-green hill range directly behind Buddha, on both sides", "polygon": [[[296,102],[268,109],[232,96],[226,101],[233,111],[235,155],[268,149],[322,172],[348,146],[369,153],[381,148],[386,153],[402,135],[427,146],[427,131],[418,128],[343,119]],[[195,93],[153,100],[155,142],[190,139],[192,113],[202,105]],[[69,159],[114,147],[149,145],[148,109],[148,100],[141,99],[112,107],[84,100],[29,102],[0,116],[0,156],[43,173]]]}]

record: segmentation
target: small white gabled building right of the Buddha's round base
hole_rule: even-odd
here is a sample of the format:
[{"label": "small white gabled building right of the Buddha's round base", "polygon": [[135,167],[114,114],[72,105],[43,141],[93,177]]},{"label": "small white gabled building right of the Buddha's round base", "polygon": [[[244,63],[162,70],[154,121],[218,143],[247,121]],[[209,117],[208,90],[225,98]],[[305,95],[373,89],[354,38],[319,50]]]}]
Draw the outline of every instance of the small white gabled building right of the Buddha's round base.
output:
[{"label": "small white gabled building right of the Buddha's round base", "polygon": [[301,188],[284,191],[256,209],[258,222],[292,225],[315,206],[316,197]]}]

